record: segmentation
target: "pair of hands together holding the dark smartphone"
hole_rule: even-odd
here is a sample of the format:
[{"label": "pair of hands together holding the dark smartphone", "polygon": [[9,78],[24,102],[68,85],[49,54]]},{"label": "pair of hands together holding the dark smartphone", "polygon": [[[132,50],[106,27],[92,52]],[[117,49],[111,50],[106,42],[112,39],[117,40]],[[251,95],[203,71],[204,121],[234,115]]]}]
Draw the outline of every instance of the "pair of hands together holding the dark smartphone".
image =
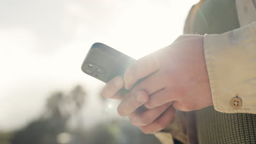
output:
[{"label": "pair of hands together holding the dark smartphone", "polygon": [[[131,91],[120,91],[123,86]],[[127,68],[124,81],[115,77],[102,94],[122,100],[119,115],[129,116],[144,133],[164,129],[174,116],[173,107],[192,111],[212,105],[203,36],[183,35],[172,45],[138,59]]]}]

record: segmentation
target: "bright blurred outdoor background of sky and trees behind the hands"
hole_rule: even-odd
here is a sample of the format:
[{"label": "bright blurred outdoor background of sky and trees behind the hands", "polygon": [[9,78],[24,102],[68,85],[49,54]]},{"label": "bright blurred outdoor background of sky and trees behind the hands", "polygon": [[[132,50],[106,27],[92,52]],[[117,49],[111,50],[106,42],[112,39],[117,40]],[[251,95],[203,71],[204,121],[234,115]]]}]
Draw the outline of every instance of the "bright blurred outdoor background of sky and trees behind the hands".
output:
[{"label": "bright blurred outdoor background of sky and trees behind the hands", "polygon": [[198,0],[0,0],[0,143],[159,143],[80,70],[95,42],[135,59],[170,45]]}]

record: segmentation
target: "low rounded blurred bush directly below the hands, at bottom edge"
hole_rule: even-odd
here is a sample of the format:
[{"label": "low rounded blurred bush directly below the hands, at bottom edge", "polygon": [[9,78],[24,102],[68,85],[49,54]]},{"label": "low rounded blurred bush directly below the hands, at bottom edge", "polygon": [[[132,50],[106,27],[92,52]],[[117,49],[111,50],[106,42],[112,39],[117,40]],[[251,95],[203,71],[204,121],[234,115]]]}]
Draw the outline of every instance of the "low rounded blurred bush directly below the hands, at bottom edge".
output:
[{"label": "low rounded blurred bush directly below the hands, at bottom edge", "polygon": [[113,120],[107,123],[97,124],[87,133],[86,143],[93,144],[160,144],[154,135],[146,135],[129,121]]}]

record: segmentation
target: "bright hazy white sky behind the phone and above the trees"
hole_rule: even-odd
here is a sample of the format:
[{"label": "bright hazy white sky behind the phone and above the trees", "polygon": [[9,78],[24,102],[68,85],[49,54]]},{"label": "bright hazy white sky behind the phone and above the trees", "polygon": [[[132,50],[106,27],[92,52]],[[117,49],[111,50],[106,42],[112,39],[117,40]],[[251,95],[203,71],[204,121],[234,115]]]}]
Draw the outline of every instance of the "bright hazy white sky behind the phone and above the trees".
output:
[{"label": "bright hazy white sky behind the phone and above the trees", "polygon": [[[120,118],[117,100],[102,105],[104,83],[80,70],[93,43],[135,59],[182,34],[198,0],[0,0],[0,131],[24,127],[52,92],[82,85],[84,126]],[[105,111],[102,113],[102,109]]]}]

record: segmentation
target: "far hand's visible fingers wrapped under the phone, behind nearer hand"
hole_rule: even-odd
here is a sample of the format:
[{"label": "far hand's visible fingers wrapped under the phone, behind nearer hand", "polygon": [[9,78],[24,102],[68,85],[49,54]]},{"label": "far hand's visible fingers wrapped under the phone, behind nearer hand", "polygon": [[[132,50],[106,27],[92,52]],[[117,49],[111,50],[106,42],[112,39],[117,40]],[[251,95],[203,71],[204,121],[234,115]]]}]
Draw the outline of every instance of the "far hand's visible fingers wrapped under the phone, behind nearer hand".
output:
[{"label": "far hand's visible fingers wrapped under the phone, behind nearer hand", "polygon": [[174,116],[175,110],[171,103],[147,110],[143,106],[148,101],[145,91],[138,91],[131,97],[121,91],[124,82],[121,76],[114,77],[103,88],[102,95],[106,98],[122,100],[118,108],[119,115],[129,116],[131,123],[136,125],[143,133],[149,134],[164,129]]}]

